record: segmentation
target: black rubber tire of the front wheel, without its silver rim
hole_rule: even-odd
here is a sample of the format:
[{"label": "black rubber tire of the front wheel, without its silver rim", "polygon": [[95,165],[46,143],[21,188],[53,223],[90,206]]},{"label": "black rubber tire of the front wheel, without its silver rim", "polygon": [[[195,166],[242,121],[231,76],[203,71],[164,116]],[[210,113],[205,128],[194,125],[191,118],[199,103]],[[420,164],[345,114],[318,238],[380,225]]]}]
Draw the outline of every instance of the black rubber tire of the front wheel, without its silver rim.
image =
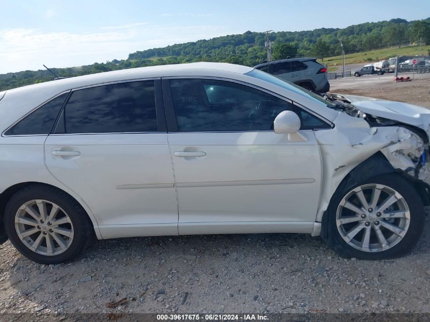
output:
[{"label": "black rubber tire of the front wheel, without its silver rim", "polygon": [[[340,201],[352,189],[365,184],[382,184],[400,193],[406,201],[410,212],[410,223],[406,235],[393,247],[378,252],[366,252],[350,246],[343,238],[336,226],[336,212]],[[329,246],[342,257],[358,259],[387,259],[403,256],[411,251],[418,242],[424,225],[424,205],[412,184],[397,173],[379,175],[354,186],[336,191],[328,209],[328,238]]]}]

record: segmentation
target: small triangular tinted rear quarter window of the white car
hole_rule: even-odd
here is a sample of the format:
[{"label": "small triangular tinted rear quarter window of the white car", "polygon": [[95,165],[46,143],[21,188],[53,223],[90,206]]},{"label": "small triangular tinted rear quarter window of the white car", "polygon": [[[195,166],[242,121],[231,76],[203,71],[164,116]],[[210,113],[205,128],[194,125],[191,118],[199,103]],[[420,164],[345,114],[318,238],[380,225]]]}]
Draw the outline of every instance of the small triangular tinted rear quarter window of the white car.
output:
[{"label": "small triangular tinted rear quarter window of the white car", "polygon": [[49,134],[55,119],[66,100],[68,93],[55,97],[25,116],[19,123],[10,128],[6,135],[43,135]]}]

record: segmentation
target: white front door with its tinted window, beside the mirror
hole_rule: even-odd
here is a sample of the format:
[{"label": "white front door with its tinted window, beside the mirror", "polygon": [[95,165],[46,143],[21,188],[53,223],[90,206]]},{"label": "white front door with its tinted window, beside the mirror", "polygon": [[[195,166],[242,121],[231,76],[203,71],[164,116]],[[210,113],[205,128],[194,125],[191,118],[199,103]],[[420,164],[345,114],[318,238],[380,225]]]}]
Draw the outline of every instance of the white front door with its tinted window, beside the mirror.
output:
[{"label": "white front door with its tinted window, beside the mirror", "polygon": [[293,103],[217,79],[163,80],[179,233],[310,232],[321,186],[319,147],[275,134]]}]

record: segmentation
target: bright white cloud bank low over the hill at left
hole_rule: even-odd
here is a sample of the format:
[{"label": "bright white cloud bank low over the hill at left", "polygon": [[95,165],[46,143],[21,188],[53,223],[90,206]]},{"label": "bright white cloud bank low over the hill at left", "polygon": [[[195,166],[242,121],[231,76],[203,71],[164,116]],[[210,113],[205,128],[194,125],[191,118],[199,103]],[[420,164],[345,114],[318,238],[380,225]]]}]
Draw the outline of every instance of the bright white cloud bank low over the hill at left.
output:
[{"label": "bright white cloud bank low over the hill at left", "polygon": [[177,43],[241,33],[225,26],[173,24],[108,27],[84,33],[39,29],[0,30],[0,73],[48,67],[73,67],[119,60],[129,53]]}]

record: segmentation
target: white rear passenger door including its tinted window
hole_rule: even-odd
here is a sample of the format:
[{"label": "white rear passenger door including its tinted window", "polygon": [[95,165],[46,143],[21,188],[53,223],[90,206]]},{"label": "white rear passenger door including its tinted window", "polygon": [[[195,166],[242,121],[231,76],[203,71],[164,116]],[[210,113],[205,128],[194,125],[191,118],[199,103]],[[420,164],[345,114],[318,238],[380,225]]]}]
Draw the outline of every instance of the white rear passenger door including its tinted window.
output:
[{"label": "white rear passenger door including its tinted window", "polygon": [[72,90],[45,162],[93,211],[103,238],[177,235],[159,79]]}]

